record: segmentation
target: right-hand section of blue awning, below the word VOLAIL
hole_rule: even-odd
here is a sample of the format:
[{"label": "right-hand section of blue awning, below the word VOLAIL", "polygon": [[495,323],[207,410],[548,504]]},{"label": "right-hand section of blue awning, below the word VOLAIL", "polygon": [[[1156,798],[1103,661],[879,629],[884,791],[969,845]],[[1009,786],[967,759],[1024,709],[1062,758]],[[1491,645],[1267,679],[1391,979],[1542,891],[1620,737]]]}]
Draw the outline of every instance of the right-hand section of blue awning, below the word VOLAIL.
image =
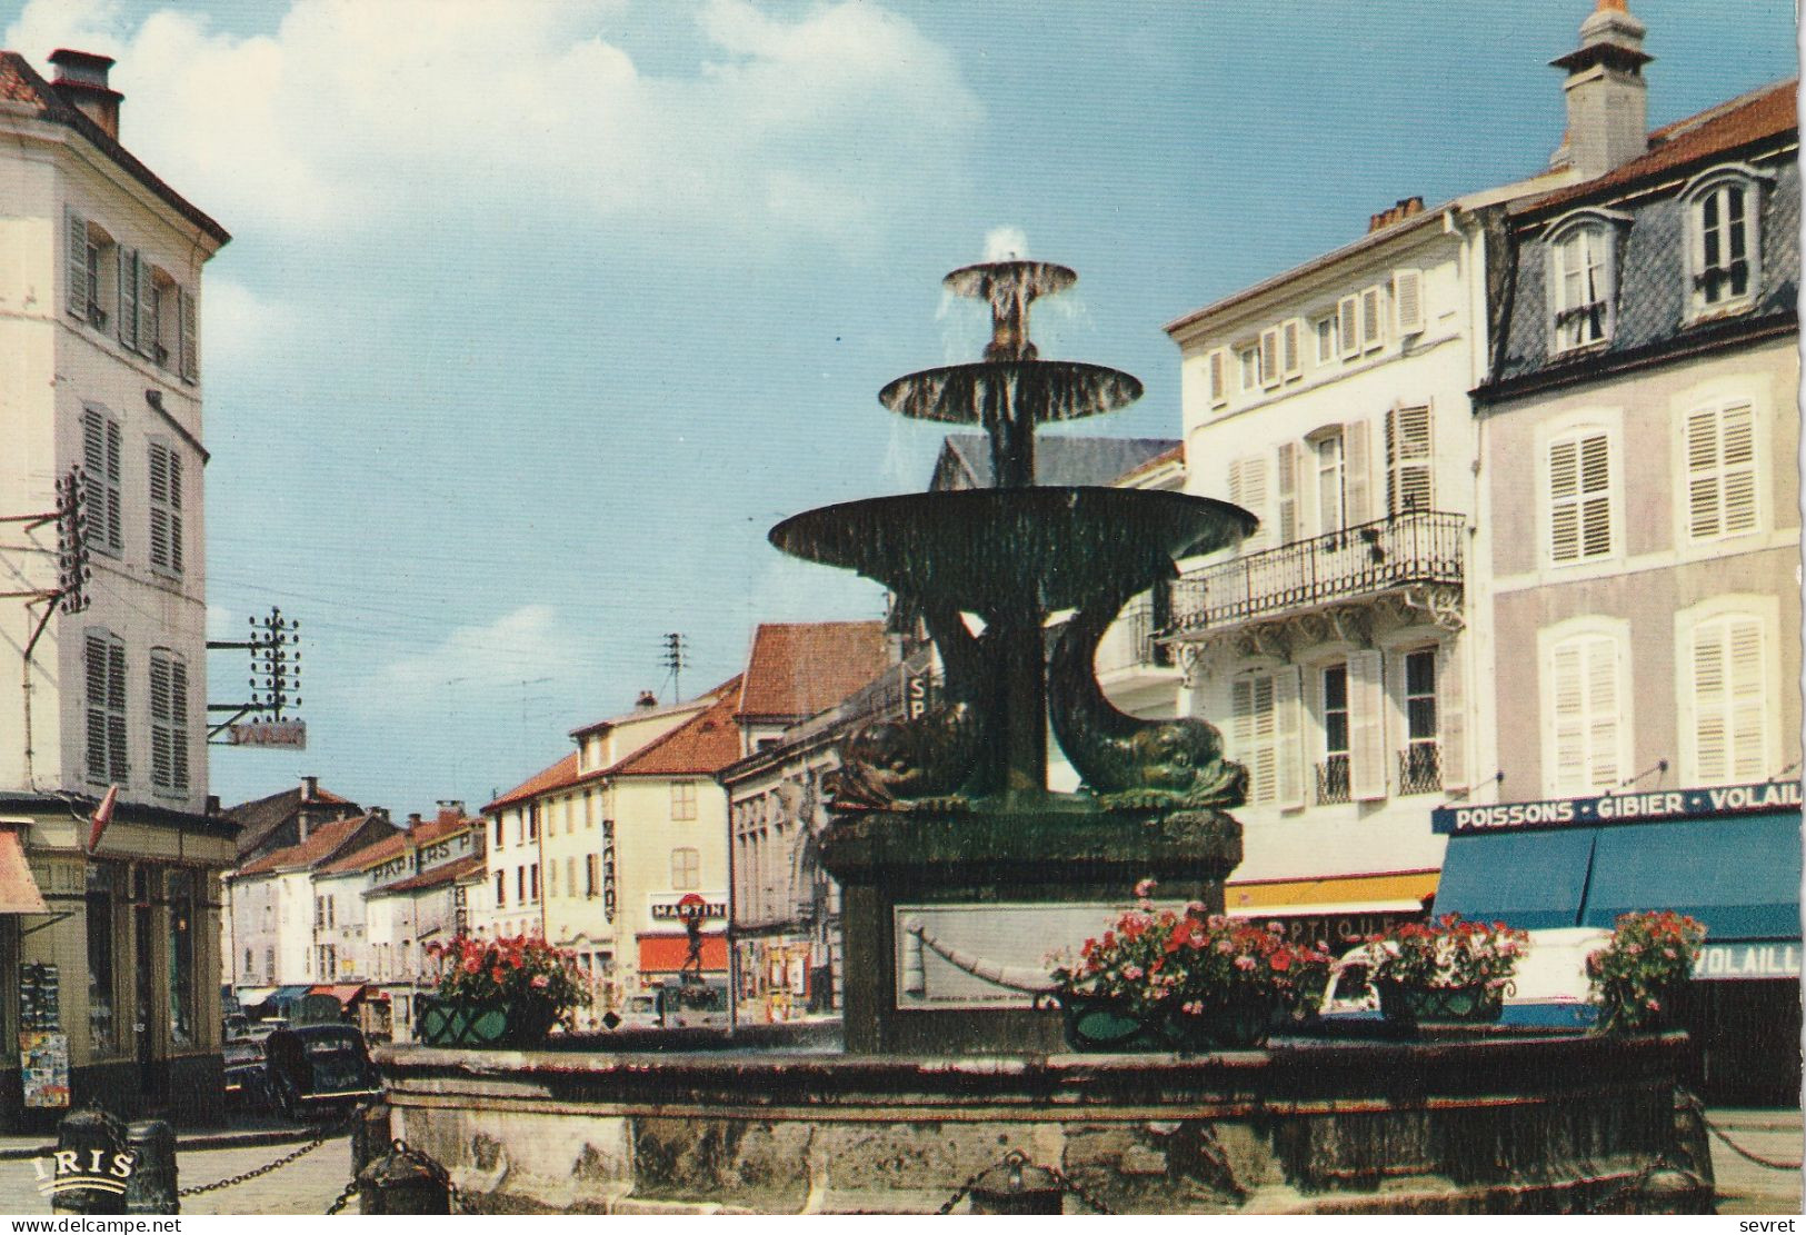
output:
[{"label": "right-hand section of blue awning, below the word VOLAIL", "polygon": [[1598,829],[1580,924],[1631,910],[1698,917],[1708,942],[1799,939],[1799,811]]}]

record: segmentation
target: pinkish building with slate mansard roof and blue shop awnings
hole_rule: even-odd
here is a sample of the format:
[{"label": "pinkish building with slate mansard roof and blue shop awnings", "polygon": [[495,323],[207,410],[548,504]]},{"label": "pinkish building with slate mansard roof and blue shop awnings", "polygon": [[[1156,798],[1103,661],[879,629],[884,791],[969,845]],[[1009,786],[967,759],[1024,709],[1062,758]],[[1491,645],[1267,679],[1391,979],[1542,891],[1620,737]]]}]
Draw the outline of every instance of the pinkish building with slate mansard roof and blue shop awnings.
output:
[{"label": "pinkish building with slate mansard roof and blue shop awnings", "polygon": [[[1589,25],[1571,74],[1640,63],[1631,14]],[[1795,94],[1669,125],[1512,211],[1477,392],[1499,805],[1447,818],[1450,905],[1699,917],[1687,1026],[1732,1103],[1792,1101],[1801,1076]]]}]

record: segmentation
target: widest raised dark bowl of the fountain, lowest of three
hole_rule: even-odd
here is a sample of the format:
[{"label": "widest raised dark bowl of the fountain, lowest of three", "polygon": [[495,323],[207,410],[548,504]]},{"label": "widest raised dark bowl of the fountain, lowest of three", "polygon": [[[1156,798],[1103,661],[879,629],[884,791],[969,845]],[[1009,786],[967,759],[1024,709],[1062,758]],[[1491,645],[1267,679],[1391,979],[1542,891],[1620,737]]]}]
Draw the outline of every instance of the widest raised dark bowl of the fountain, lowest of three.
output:
[{"label": "widest raised dark bowl of the fountain, lowest of three", "polygon": [[771,543],[982,614],[1127,599],[1172,576],[1174,558],[1239,543],[1255,525],[1239,506],[1156,489],[963,489],[804,511]]}]

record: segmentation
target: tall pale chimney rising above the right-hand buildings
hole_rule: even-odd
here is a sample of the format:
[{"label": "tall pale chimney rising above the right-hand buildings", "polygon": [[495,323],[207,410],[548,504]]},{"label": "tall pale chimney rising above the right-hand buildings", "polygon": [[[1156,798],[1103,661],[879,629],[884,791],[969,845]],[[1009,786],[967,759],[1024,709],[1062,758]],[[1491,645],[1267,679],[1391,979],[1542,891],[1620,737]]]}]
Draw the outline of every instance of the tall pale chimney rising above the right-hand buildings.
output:
[{"label": "tall pale chimney rising above the right-hand buildings", "polygon": [[1582,181],[1606,175],[1649,150],[1647,27],[1629,0],[1598,0],[1580,23],[1580,47],[1550,63],[1568,70],[1568,132],[1550,166],[1568,164]]}]

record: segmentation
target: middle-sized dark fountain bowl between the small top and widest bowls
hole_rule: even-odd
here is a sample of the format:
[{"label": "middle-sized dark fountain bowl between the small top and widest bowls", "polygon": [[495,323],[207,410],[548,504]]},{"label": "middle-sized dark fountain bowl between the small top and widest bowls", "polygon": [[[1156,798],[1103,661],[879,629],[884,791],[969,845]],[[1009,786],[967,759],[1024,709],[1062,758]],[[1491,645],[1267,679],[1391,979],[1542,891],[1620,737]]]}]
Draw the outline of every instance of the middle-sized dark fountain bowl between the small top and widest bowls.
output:
[{"label": "middle-sized dark fountain bowl between the small top and widest bowls", "polygon": [[1140,397],[1141,383],[1118,368],[1049,359],[946,365],[898,377],[878,392],[878,401],[898,415],[954,424],[1010,419],[1011,410],[1035,424],[1076,421],[1127,408]]}]

